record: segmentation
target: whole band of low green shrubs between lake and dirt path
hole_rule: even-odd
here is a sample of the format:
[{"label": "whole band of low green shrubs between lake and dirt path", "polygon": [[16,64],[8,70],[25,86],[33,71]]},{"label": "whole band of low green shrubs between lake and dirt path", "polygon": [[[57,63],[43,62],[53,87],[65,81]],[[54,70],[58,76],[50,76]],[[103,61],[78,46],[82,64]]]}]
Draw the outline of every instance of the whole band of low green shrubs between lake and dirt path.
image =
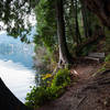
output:
[{"label": "whole band of low green shrubs between lake and dirt path", "polygon": [[51,85],[33,87],[31,92],[26,96],[25,105],[32,108],[37,108],[50,100],[56,99],[65,91],[65,87],[69,82],[69,70],[59,69],[54,76],[53,80],[50,82]]}]

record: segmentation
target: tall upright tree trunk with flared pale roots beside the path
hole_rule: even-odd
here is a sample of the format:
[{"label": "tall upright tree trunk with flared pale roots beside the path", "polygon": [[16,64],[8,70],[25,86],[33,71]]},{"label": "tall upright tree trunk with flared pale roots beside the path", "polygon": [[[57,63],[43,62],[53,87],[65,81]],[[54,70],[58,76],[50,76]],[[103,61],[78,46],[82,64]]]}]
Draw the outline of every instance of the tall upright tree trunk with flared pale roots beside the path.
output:
[{"label": "tall upright tree trunk with flared pale roots beside the path", "polygon": [[73,59],[66,44],[63,0],[56,0],[56,15],[59,45],[59,65],[70,64]]}]

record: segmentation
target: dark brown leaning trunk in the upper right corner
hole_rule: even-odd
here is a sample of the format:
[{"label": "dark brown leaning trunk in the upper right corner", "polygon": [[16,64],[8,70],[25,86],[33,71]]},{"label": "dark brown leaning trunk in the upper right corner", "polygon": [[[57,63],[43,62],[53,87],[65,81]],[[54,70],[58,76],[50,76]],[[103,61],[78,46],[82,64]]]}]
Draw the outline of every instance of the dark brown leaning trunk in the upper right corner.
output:
[{"label": "dark brown leaning trunk in the upper right corner", "polygon": [[84,0],[85,6],[97,14],[103,25],[110,29],[110,0]]}]

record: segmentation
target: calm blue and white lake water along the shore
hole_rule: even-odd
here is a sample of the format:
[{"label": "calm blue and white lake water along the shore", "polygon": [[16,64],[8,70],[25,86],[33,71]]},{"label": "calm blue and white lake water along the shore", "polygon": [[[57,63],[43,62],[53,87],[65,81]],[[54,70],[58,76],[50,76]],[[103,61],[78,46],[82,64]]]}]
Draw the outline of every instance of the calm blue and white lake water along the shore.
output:
[{"label": "calm blue and white lake water along the shore", "polygon": [[0,77],[22,102],[31,90],[30,86],[35,86],[33,50],[33,44],[0,34]]}]

